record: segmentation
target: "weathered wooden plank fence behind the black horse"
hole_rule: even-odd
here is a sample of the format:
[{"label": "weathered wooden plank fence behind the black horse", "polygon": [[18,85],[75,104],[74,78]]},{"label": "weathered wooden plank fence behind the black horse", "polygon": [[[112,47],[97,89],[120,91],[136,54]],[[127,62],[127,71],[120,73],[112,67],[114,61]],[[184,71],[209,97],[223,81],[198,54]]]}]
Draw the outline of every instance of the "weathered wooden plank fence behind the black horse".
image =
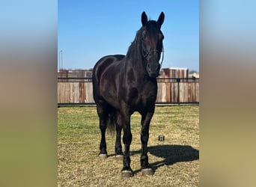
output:
[{"label": "weathered wooden plank fence behind the black horse", "polygon": [[[157,79],[156,103],[199,104],[199,79]],[[89,78],[58,78],[58,105],[94,104]]]}]

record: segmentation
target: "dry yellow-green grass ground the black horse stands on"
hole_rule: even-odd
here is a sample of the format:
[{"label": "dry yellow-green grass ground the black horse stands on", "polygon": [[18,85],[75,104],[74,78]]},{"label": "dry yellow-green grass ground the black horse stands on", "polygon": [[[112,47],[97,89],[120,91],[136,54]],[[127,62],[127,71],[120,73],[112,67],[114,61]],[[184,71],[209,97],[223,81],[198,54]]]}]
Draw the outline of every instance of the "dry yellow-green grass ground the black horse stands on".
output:
[{"label": "dry yellow-green grass ground the black horse stands on", "polygon": [[[58,186],[198,186],[198,105],[157,106],[150,124],[149,162],[155,174],[140,172],[140,115],[132,115],[131,167],[121,179],[115,138],[106,135],[108,159],[99,159],[100,129],[94,106],[58,108]],[[165,141],[158,141],[165,135]],[[123,146],[124,147],[124,146]]]}]

